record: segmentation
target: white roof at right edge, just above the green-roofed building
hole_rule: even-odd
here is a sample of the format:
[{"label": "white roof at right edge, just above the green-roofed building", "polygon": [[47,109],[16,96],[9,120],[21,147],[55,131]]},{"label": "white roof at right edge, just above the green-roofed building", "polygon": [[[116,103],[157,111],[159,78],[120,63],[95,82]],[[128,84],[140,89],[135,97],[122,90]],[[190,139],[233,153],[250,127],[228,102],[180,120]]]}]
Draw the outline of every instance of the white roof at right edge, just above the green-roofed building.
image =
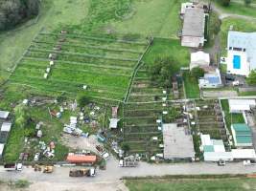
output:
[{"label": "white roof at right edge, just above the green-roofed building", "polygon": [[248,111],[256,106],[255,99],[228,99],[229,111]]}]

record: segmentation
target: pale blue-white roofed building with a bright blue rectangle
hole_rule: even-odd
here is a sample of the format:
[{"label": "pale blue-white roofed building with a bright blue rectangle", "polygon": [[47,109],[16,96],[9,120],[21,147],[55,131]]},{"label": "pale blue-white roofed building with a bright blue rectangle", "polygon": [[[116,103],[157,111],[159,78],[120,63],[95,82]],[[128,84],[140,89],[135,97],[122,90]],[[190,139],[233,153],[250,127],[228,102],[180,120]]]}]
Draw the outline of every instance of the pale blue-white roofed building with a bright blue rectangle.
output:
[{"label": "pale blue-white roofed building with a bright blue rectangle", "polygon": [[227,73],[248,76],[256,69],[256,32],[228,32]]}]

